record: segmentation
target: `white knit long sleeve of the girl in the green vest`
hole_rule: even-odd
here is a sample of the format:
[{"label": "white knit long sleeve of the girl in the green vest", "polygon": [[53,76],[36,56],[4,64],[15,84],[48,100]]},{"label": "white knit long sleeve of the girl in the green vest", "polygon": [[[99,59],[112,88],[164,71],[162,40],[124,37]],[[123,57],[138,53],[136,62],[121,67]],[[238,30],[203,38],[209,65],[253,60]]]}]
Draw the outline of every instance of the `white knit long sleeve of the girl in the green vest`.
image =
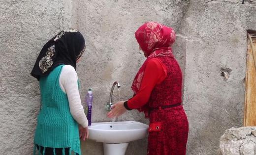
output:
[{"label": "white knit long sleeve of the girl in the green vest", "polygon": [[88,120],[81,103],[77,80],[77,73],[74,67],[70,65],[64,65],[59,80],[60,86],[64,93],[67,94],[72,117],[78,124],[85,128],[88,126]]}]

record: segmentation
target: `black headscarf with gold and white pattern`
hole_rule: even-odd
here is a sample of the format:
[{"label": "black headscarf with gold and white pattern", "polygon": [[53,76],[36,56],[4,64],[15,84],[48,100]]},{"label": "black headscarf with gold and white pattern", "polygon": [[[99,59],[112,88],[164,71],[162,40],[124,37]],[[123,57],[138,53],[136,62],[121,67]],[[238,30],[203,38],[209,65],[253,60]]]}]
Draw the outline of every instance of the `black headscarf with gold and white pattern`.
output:
[{"label": "black headscarf with gold and white pattern", "polygon": [[61,31],[49,40],[39,53],[31,75],[37,80],[41,76],[47,76],[59,65],[71,65],[76,70],[76,60],[85,51],[85,39],[76,29]]}]

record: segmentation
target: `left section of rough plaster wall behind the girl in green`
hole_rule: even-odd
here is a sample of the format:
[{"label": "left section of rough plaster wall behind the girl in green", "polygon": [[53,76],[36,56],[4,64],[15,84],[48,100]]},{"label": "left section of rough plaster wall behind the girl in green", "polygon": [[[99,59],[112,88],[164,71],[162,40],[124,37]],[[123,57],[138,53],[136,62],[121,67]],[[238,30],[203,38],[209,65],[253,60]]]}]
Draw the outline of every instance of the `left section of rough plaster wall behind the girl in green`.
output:
[{"label": "left section of rough plaster wall behind the girl in green", "polygon": [[39,86],[30,76],[42,46],[71,24],[71,1],[0,0],[0,154],[31,155]]}]

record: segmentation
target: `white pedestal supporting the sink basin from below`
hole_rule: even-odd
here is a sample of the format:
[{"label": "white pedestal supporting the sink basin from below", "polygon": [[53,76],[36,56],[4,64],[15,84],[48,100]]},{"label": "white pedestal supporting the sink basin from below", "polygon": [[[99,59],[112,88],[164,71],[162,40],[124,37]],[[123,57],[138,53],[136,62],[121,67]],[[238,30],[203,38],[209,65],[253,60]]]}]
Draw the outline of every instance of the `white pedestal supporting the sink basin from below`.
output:
[{"label": "white pedestal supporting the sink basin from below", "polygon": [[103,143],[104,155],[125,155],[128,143],[108,144]]}]

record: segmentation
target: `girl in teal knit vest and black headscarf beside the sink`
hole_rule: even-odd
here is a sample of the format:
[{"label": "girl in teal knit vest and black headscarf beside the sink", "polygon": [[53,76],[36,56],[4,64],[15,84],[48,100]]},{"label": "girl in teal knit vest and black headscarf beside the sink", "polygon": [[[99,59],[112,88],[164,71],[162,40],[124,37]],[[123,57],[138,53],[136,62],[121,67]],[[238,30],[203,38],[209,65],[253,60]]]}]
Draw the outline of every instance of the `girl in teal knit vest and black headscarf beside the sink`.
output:
[{"label": "girl in teal knit vest and black headscarf beside the sink", "polygon": [[85,40],[75,29],[61,31],[39,53],[31,75],[39,80],[41,107],[33,155],[81,155],[80,138],[88,138],[88,121],[78,91],[76,63]]}]

